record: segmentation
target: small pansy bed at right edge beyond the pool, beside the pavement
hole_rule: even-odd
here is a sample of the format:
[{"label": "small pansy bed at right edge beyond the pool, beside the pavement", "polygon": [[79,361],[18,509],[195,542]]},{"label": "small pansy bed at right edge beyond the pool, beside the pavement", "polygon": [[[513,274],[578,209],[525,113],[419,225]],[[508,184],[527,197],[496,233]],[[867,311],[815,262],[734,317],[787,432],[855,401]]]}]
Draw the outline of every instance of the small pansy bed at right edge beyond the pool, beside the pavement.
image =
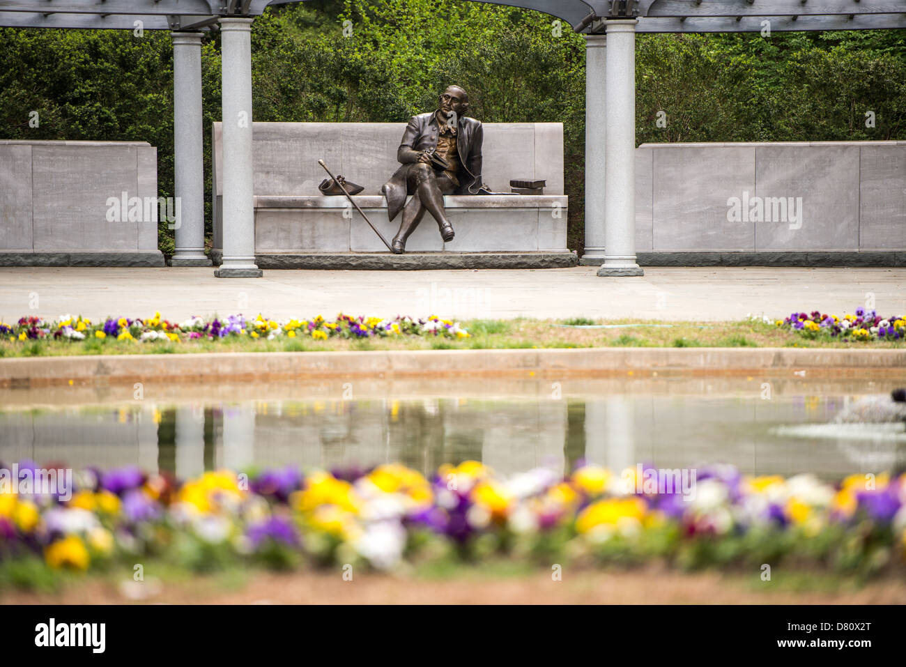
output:
[{"label": "small pansy bed at right edge beyond the pool, beside the pavement", "polygon": [[784,320],[776,320],[775,324],[811,340],[899,341],[906,335],[906,315],[882,317],[874,310],[863,307],[843,317],[817,310],[793,313]]}]

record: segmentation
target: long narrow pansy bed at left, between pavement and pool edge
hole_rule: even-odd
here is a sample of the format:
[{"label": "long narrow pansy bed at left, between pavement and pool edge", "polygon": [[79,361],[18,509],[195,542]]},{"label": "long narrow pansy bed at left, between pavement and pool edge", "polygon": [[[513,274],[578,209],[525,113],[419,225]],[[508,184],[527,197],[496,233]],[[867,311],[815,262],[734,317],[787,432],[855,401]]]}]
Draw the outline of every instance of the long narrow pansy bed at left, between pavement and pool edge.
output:
[{"label": "long narrow pansy bed at left, between pavement and pool edge", "polygon": [[328,338],[372,338],[392,336],[441,336],[467,338],[468,332],[458,323],[442,320],[435,315],[427,319],[411,317],[353,317],[339,314],[333,322],[321,315],[310,320],[271,320],[261,314],[246,318],[244,315],[227,315],[205,320],[190,317],[185,322],[169,322],[160,313],[153,317],[131,319],[108,317],[102,322],[92,322],[87,317],[66,314],[56,320],[40,317],[22,317],[15,324],[0,322],[0,336],[10,341],[84,341],[111,338],[117,341],[155,343],[157,341],[184,342],[198,339],[223,340],[226,338],[264,339],[310,338],[326,341]]}]

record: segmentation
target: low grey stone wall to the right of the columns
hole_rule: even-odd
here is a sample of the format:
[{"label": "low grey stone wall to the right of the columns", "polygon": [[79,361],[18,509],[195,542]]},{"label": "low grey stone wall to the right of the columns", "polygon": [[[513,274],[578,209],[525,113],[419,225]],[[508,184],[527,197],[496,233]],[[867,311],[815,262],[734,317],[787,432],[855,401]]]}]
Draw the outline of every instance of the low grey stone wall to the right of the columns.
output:
[{"label": "low grey stone wall to the right of the columns", "polygon": [[642,144],[635,200],[640,264],[906,266],[906,141]]}]

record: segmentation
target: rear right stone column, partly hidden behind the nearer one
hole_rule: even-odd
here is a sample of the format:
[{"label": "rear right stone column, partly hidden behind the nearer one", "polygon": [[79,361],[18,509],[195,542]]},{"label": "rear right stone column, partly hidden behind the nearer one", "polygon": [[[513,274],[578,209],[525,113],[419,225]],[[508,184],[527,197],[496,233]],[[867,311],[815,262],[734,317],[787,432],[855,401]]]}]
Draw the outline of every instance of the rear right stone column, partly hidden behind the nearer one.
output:
[{"label": "rear right stone column, partly hidden behind the nearer one", "polygon": [[579,263],[593,266],[604,262],[606,44],[604,34],[585,35],[585,252]]}]

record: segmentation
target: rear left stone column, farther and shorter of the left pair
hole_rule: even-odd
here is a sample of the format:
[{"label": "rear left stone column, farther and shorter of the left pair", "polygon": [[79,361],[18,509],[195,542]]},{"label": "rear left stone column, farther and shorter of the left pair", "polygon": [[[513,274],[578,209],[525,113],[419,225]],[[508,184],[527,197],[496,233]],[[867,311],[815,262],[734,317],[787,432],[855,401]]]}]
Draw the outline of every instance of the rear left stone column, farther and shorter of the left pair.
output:
[{"label": "rear left stone column, farther and shorter of the left pair", "polygon": [[201,150],[201,33],[173,39],[173,181],[179,215],[170,266],[211,266],[205,255],[205,165]]}]

